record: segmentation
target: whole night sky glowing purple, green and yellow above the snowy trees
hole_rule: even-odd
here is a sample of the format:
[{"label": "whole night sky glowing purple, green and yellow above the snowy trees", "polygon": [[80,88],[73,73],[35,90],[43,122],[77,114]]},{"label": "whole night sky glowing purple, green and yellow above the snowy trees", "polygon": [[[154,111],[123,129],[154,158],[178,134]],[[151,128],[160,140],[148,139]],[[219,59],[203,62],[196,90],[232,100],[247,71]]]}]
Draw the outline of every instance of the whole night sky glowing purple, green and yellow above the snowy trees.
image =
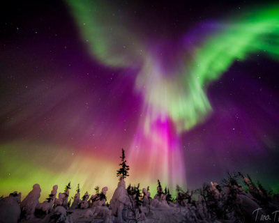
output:
[{"label": "whole night sky glowing purple, green and yellow above the snowy trees", "polygon": [[[42,1],[1,15],[0,195],[71,181],[278,192],[279,6]],[[126,180],[126,181],[127,181]],[[42,195],[42,197],[44,197]]]}]

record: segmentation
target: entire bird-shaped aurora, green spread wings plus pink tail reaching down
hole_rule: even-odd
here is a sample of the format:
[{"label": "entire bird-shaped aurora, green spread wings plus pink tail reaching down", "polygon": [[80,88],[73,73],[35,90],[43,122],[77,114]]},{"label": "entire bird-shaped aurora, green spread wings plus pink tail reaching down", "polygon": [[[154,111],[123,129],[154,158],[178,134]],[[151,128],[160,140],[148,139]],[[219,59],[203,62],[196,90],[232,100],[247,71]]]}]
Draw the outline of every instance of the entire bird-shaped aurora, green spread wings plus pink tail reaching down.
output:
[{"label": "entire bird-shaped aurora, green spread wings plus pink tail reaching down", "polygon": [[[203,28],[209,29],[210,35],[197,31],[197,40],[189,46],[186,33],[179,40],[179,49],[164,52],[164,44],[169,43],[152,44],[146,38],[141,41],[131,24],[114,19],[109,6],[92,1],[67,2],[82,38],[89,42],[93,59],[105,66],[139,70],[134,89],[142,95],[144,105],[130,151],[132,170],[144,164],[149,167],[144,178],[160,178],[172,188],[177,183],[185,186],[180,134],[211,114],[207,86],[234,61],[260,51],[278,59],[278,6],[205,23]],[[166,60],[162,52],[175,59]]]}]

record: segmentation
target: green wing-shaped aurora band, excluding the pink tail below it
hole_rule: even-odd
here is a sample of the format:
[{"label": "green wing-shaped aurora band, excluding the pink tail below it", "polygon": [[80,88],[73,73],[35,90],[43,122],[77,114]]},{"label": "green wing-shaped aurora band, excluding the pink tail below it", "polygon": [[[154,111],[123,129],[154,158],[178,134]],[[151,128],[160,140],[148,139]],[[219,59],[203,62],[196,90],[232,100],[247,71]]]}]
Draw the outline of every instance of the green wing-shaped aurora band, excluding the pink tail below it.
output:
[{"label": "green wing-shaped aurora band, excluding the pink tail below it", "polygon": [[144,121],[146,134],[160,116],[171,118],[177,132],[202,123],[212,110],[207,86],[234,61],[243,61],[257,52],[278,59],[277,5],[247,10],[247,16],[216,23],[217,31],[204,36],[190,52],[182,46],[176,68],[164,70],[158,56],[140,41],[142,36],[136,35],[140,32],[131,28],[133,22],[128,23],[125,17],[117,19],[113,8],[96,1],[67,3],[93,59],[112,67],[140,66],[135,90],[142,93],[144,109],[149,110]]}]

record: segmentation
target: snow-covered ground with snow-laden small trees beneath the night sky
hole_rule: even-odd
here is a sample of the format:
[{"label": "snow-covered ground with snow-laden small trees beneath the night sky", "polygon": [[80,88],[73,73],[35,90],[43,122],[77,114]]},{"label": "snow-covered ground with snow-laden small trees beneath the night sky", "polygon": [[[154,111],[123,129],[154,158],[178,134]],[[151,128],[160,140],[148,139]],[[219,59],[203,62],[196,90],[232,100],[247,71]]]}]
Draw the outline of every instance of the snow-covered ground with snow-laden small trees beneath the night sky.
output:
[{"label": "snow-covered ground with snow-laden small trees beneath the night sky", "polygon": [[[0,222],[278,222],[279,216],[272,214],[279,212],[278,194],[271,197],[250,179],[244,180],[249,192],[229,179],[222,187],[217,183],[204,185],[195,192],[197,199],[193,199],[193,192],[183,190],[178,190],[176,199],[170,199],[160,185],[152,199],[146,188],[140,194],[139,187],[126,189],[125,181],[120,180],[110,203],[105,197],[108,188],[103,187],[90,198],[86,192],[80,199],[77,191],[71,204],[67,190],[56,198],[57,185],[50,198],[39,203],[40,185],[36,184],[22,202],[17,192],[0,199]],[[271,221],[263,220],[262,216],[268,215]]]}]

